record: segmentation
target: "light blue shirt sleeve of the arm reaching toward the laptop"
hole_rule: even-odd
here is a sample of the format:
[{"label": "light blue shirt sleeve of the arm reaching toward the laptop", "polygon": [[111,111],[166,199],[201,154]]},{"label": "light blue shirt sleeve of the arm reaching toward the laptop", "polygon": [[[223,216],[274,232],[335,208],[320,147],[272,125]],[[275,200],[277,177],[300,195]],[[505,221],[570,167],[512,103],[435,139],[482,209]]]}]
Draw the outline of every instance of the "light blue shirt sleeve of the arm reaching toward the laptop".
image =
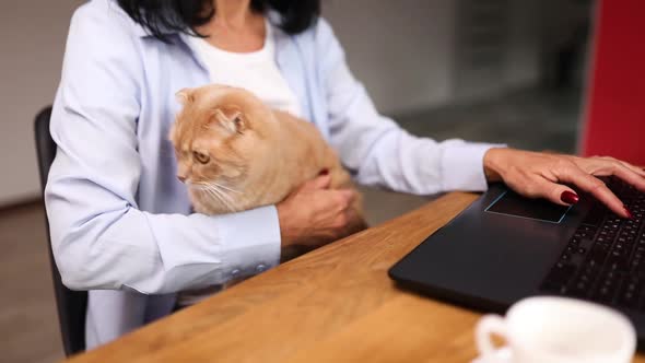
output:
[{"label": "light blue shirt sleeve of the arm reaching toward the laptop", "polygon": [[417,195],[488,188],[483,156],[504,145],[458,139],[437,142],[408,133],[378,114],[353,78],[329,24],[320,20],[317,31],[330,142],[357,183]]}]

